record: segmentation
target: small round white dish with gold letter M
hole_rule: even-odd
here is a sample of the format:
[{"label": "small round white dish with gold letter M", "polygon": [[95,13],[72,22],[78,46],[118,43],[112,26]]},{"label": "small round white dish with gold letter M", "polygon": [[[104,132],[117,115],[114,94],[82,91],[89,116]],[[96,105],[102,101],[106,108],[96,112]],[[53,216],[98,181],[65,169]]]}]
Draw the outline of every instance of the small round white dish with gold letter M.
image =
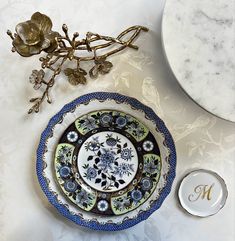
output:
[{"label": "small round white dish with gold letter M", "polygon": [[217,173],[200,169],[183,178],[178,195],[180,204],[187,212],[198,217],[208,217],[223,208],[228,190]]}]

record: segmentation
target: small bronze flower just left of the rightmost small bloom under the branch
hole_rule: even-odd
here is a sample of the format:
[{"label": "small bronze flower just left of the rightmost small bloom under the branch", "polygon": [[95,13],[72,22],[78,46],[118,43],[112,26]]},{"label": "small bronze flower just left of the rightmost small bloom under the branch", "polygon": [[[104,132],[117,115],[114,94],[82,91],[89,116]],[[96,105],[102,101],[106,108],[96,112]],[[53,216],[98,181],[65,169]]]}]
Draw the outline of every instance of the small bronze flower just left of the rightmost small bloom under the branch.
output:
[{"label": "small bronze flower just left of the rightmost small bloom under the branch", "polygon": [[66,76],[68,76],[68,81],[71,85],[85,84],[87,74],[84,69],[70,69],[67,68],[64,70]]}]

